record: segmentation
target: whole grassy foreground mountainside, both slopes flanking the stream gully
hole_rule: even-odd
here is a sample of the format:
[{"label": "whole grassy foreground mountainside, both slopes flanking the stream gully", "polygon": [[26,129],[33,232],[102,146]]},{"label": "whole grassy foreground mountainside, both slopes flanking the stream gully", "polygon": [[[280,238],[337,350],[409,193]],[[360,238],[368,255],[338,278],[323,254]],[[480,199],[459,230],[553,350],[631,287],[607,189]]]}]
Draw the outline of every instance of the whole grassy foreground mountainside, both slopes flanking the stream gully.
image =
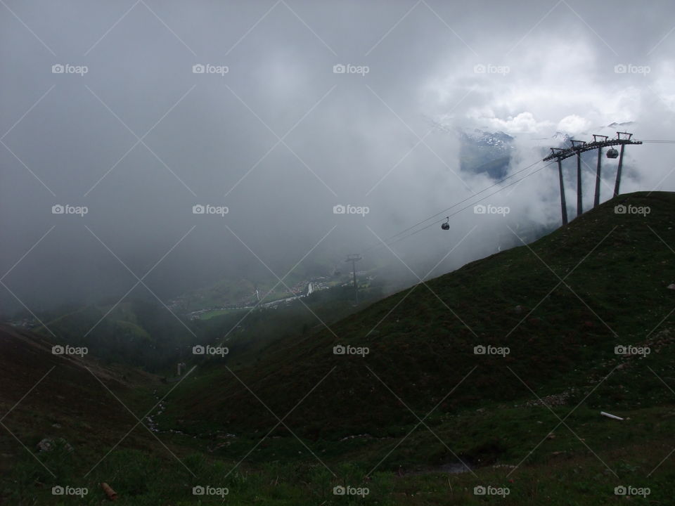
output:
[{"label": "whole grassy foreground mountainside, both slopes flanking the stream gully", "polygon": [[[650,212],[616,214],[616,205]],[[135,413],[163,398],[151,413],[157,439],[137,427],[118,445],[136,420],[90,372],[51,356],[51,338],[3,331],[0,380],[14,392],[1,399],[5,411],[58,366],[4,423],[30,448],[63,436],[75,451],[37,462],[5,434],[0,502],[100,504],[108,481],[117,503],[133,506],[223,502],[193,495],[199,485],[228,488],[231,505],[670,504],[672,216],[674,194],[621,195],[532,244],[345,318],[344,301],[317,294],[311,306],[328,329],[298,327],[299,306],[252,314],[236,334],[253,344],[237,337],[226,358],[188,357],[196,368],[179,384],[89,361]],[[138,316],[123,307],[113,322],[140,337],[152,318]],[[195,328],[215,341],[236,316]],[[66,322],[84,320],[48,325],[71,335]],[[368,353],[334,354],[340,345]],[[615,353],[629,345],[637,353]],[[454,473],[461,462],[470,471]],[[58,484],[90,493],[56,497]],[[368,495],[335,495],[340,486]],[[489,486],[508,494],[475,493]],[[648,495],[636,492],[645,487]]]}]

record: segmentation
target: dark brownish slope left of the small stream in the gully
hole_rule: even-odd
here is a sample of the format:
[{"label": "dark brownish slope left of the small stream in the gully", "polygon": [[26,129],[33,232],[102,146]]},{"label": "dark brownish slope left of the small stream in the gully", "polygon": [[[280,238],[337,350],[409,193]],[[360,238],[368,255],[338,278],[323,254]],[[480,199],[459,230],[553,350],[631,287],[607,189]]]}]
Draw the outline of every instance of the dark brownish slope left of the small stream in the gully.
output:
[{"label": "dark brownish slope left of the small stream in the gully", "polygon": [[[93,466],[136,424],[115,396],[139,416],[155,402],[150,394],[159,385],[155,377],[131,368],[105,367],[90,356],[54,355],[53,344],[46,337],[0,325],[3,472],[25,458],[27,450],[44,461],[37,447],[43,439],[67,442],[82,465]],[[139,427],[125,445],[146,448],[150,439]],[[46,472],[42,467],[38,471]]]}]

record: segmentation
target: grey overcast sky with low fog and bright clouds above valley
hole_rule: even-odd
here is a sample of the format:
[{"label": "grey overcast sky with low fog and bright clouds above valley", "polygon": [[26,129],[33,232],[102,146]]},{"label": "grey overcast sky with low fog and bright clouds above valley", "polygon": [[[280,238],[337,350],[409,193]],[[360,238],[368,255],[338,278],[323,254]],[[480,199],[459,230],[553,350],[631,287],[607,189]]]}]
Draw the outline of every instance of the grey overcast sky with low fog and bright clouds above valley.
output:
[{"label": "grey overcast sky with low fog and bright clouds above valley", "polygon": [[[153,266],[166,298],[308,252],[338,263],[495,182],[460,170],[458,128],[514,136],[510,173],[557,131],[675,138],[672,1],[0,3],[5,307],[121,297]],[[674,154],[627,149],[622,192],[675,190]],[[510,214],[467,209],[364,265],[421,277],[463,240],[437,275],[513,240],[506,225],[555,226],[557,174],[484,203]]]}]

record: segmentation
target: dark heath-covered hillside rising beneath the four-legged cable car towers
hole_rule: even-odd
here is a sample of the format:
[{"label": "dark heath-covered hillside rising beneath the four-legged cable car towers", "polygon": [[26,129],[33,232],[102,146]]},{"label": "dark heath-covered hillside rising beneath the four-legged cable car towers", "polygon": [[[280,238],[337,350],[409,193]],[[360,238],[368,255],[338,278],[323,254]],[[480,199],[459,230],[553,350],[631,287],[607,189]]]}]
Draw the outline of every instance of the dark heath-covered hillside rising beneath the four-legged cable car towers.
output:
[{"label": "dark heath-covered hillside rising beneath the four-legged cable car towers", "polygon": [[[616,205],[650,213],[616,214]],[[641,364],[675,376],[673,216],[673,193],[620,195],[530,245],[394,294],[300,342],[278,342],[255,367],[230,371],[214,359],[176,391],[165,422],[265,434],[278,423],[270,411],[293,410],[283,422],[295,434],[399,434],[418,421],[411,410],[423,417],[437,406],[425,421],[437,423],[463,408],[532,400],[523,382],[539,396],[578,402],[610,372],[589,405],[665,402],[669,392]],[[338,344],[369,353],[335,355]],[[652,353],[617,356],[619,344]],[[510,353],[475,354],[480,345]]]}]

